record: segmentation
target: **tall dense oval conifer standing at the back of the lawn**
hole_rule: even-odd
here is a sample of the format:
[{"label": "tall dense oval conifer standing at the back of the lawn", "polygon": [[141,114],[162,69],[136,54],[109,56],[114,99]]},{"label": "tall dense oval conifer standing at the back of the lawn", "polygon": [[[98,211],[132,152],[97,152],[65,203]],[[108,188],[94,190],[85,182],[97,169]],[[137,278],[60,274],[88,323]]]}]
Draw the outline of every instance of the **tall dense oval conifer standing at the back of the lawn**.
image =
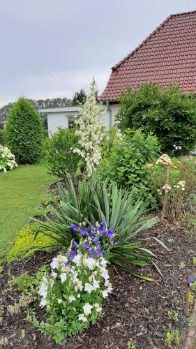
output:
[{"label": "tall dense oval conifer standing at the back of the lawn", "polygon": [[33,105],[20,98],[8,114],[6,143],[17,163],[35,163],[41,155],[43,128]]}]

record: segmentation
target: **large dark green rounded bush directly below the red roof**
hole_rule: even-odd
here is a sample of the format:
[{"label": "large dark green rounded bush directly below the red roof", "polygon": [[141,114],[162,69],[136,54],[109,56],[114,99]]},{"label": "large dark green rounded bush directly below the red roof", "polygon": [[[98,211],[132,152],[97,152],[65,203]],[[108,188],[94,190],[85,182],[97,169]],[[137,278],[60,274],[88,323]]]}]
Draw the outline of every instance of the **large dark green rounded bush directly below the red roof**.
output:
[{"label": "large dark green rounded bush directly below the red roof", "polygon": [[163,153],[186,155],[195,147],[196,98],[177,86],[165,90],[146,83],[135,91],[128,89],[120,98],[116,120],[121,131],[142,128],[155,134]]}]

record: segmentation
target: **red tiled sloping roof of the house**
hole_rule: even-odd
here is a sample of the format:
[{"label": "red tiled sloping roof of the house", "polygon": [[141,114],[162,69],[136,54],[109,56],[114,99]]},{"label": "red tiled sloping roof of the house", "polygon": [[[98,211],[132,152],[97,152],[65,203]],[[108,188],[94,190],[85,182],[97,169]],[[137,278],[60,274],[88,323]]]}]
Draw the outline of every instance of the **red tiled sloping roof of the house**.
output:
[{"label": "red tiled sloping roof of the house", "polygon": [[169,15],[133,52],[112,68],[102,101],[117,101],[126,87],[145,82],[179,84],[196,91],[196,10]]}]

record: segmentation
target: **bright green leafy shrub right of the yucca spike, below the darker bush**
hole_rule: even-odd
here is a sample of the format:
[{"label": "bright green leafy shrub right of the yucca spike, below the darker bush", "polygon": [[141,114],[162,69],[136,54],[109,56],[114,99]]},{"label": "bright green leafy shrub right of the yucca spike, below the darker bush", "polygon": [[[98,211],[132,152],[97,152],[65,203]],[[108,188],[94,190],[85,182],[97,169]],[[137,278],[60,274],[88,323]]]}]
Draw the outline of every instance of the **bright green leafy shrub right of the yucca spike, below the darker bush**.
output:
[{"label": "bright green leafy shrub right of the yucca spike, below the darker bush", "polygon": [[155,208],[156,192],[148,185],[149,172],[146,163],[158,156],[158,142],[155,136],[144,135],[140,130],[126,130],[126,135],[116,142],[103,158],[96,175],[100,179],[109,178],[119,186],[134,186],[134,197],[143,198],[147,205]]}]

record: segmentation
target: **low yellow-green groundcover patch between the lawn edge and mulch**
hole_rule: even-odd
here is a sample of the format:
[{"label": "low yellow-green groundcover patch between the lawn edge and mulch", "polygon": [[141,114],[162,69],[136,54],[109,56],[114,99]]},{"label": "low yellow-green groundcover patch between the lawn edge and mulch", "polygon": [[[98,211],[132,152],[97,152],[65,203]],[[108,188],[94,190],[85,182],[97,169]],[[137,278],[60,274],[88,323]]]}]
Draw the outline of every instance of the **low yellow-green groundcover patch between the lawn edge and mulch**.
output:
[{"label": "low yellow-green groundcover patch between the lawn edge and mulch", "polygon": [[21,258],[25,258],[27,253],[29,255],[33,254],[33,249],[36,248],[46,248],[50,245],[55,245],[56,240],[52,237],[45,237],[43,234],[38,234],[36,242],[34,242],[34,237],[38,230],[36,224],[27,224],[20,232],[17,233],[13,245],[10,247],[5,255],[6,262],[13,262]]}]

